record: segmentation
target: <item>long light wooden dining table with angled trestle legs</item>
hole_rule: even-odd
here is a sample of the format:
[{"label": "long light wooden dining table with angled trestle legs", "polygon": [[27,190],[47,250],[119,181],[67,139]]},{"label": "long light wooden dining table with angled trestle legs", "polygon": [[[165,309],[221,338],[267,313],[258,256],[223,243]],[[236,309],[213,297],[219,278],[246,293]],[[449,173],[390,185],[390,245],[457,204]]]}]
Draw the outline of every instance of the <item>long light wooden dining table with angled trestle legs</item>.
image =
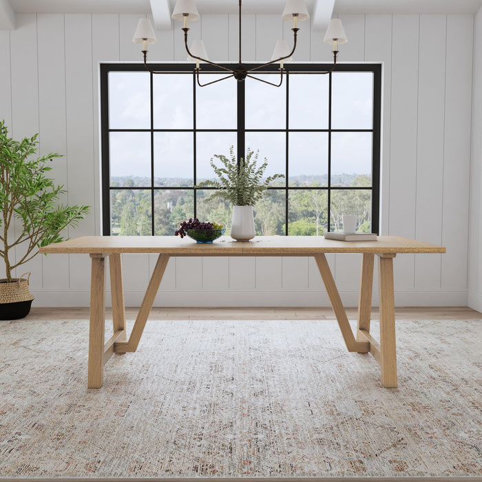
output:
[{"label": "long light wooden dining table with angled trestle legs", "polygon": [[[331,306],[350,352],[371,353],[381,368],[381,384],[397,387],[395,298],[393,258],[404,253],[445,253],[444,247],[399,236],[378,236],[374,241],[344,242],[322,236],[259,236],[247,242],[223,236],[200,244],[176,236],[83,236],[40,249],[41,253],[85,253],[92,262],[90,287],[90,332],[87,387],[101,388],[103,367],[114,353],[135,352],[143,335],[149,311],[171,257],[179,256],[303,256],[315,258]],[[127,337],[121,255],[156,253],[158,260],[149,280],[132,331]],[[361,253],[362,269],[356,333],[348,322],[327,253]],[[379,262],[379,338],[370,333],[375,256]],[[105,260],[109,260],[114,334],[105,340]],[[313,293],[316,296],[316,293]],[[320,348],[321,349],[321,348]]]}]

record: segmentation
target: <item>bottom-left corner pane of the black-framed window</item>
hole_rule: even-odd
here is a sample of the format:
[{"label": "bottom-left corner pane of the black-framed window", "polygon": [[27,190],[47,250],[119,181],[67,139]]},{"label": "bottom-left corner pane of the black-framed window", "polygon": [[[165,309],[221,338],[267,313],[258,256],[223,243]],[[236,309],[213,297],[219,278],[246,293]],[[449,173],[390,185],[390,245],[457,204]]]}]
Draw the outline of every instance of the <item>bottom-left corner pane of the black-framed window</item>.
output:
[{"label": "bottom-left corner pane of the black-framed window", "polygon": [[110,233],[112,235],[151,235],[151,191],[112,189],[110,196]]}]

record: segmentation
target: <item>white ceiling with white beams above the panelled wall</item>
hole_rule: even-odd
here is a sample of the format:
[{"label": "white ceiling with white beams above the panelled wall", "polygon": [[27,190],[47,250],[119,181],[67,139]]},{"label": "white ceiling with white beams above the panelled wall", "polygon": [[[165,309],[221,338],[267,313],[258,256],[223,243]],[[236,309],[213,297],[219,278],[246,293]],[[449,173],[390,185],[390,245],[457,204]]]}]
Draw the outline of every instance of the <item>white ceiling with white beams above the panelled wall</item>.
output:
[{"label": "white ceiling with white beams above the panelled wall", "polygon": [[[482,0],[305,0],[313,28],[324,28],[336,14],[476,13]],[[171,28],[176,0],[0,0],[0,29],[15,28],[17,13],[152,14],[157,28]],[[238,0],[196,0],[201,14],[235,14]],[[284,0],[242,0],[243,13],[281,14]]]}]

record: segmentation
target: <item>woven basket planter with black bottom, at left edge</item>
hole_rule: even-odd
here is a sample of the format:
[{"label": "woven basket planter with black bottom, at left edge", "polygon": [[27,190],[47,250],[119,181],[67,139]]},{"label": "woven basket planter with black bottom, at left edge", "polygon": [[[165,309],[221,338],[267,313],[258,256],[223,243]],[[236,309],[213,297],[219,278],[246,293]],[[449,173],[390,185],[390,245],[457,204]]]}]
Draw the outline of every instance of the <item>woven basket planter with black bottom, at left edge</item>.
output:
[{"label": "woven basket planter with black bottom, at left edge", "polygon": [[[23,276],[28,275],[24,278]],[[19,319],[27,316],[34,297],[28,290],[30,273],[19,278],[0,280],[0,319]]]}]

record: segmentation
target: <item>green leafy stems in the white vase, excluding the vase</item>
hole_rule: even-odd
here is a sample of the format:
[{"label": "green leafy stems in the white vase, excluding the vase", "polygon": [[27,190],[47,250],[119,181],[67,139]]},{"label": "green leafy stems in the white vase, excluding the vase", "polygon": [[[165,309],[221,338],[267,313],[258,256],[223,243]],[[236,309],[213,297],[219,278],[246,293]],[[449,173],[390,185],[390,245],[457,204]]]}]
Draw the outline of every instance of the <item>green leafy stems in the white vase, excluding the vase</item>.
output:
[{"label": "green leafy stems in the white vase, excluding the vase", "polygon": [[246,158],[236,159],[234,147],[229,149],[230,158],[222,154],[214,154],[222,163],[222,167],[216,166],[213,158],[210,164],[218,180],[205,180],[195,187],[214,187],[217,190],[206,198],[207,201],[222,198],[233,206],[254,206],[262,197],[265,189],[278,178],[284,178],[283,174],[273,174],[263,179],[264,171],[268,166],[268,160],[258,166],[259,151],[248,149]]}]

